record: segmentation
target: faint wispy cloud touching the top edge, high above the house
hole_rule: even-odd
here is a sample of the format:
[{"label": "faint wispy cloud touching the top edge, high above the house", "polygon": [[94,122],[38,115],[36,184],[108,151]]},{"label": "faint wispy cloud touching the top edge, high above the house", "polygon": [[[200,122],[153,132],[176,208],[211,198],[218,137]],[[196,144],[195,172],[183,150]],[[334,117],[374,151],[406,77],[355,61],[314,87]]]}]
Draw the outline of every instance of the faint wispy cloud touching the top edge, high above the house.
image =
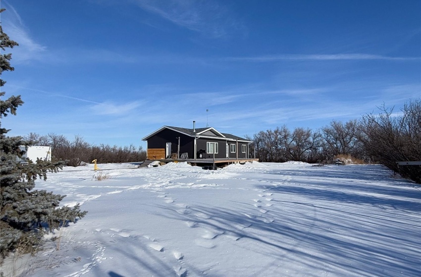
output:
[{"label": "faint wispy cloud touching the top edge, high above the house", "polygon": [[211,37],[223,37],[241,24],[228,10],[214,1],[206,0],[137,0],[144,10],[189,30]]}]

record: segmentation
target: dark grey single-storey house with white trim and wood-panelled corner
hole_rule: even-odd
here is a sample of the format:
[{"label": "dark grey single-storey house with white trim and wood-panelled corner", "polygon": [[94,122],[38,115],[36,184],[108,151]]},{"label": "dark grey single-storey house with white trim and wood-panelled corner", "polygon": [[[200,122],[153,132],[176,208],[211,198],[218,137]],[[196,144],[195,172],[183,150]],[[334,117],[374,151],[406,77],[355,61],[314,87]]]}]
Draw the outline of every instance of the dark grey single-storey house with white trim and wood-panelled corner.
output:
[{"label": "dark grey single-storey house with white trim and wood-panelled corner", "polygon": [[[142,140],[147,141],[148,159],[248,159],[248,139],[220,133],[212,127],[163,126]],[[186,154],[187,153],[187,154]],[[187,156],[187,157],[186,157]]]}]

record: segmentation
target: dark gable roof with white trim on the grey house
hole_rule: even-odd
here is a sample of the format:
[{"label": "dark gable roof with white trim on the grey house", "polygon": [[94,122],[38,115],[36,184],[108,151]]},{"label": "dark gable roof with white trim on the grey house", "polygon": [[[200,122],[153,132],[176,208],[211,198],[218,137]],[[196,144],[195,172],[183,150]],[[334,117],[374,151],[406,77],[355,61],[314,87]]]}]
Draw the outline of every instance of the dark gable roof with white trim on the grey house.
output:
[{"label": "dark gable roof with white trim on the grey house", "polygon": [[[149,134],[148,136],[146,136],[142,140],[147,140],[147,139],[151,138],[152,136],[158,134],[159,132],[161,132],[164,129],[170,129],[172,131],[184,134],[184,135],[192,137],[192,138],[198,137],[198,138],[223,139],[223,140],[237,140],[238,139],[238,140],[243,141],[243,142],[253,142],[253,141],[250,141],[248,139],[243,139],[243,138],[231,135],[231,134],[219,133],[213,127],[195,128],[194,130],[196,132],[193,132],[193,129],[174,127],[174,126],[162,126],[157,131]],[[211,132],[211,134],[209,134],[209,132]]]}]

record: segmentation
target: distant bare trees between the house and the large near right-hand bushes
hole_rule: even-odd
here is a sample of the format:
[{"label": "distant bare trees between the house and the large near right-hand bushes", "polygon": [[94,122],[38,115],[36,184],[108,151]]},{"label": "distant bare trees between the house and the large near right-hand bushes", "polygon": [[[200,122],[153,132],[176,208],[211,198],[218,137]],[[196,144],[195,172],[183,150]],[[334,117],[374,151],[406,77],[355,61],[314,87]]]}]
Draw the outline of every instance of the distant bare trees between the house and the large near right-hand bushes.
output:
[{"label": "distant bare trees between the house and the large near right-hand bushes", "polygon": [[283,125],[260,131],[249,139],[254,141],[252,150],[262,162],[329,162],[341,154],[364,159],[359,127],[357,120],[334,120],[316,131],[301,127],[290,131]]}]

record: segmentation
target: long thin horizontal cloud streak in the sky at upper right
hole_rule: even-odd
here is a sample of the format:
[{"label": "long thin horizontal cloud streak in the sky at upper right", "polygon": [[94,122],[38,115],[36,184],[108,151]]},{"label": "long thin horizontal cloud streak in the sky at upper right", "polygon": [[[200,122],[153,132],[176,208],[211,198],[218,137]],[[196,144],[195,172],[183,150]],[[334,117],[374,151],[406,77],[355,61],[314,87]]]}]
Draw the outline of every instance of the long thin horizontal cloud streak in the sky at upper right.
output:
[{"label": "long thin horizontal cloud streak in the sky at upper right", "polygon": [[252,57],[226,57],[225,61],[250,61],[250,62],[275,62],[282,60],[390,60],[390,61],[420,61],[420,57],[391,57],[364,53],[349,54],[286,54],[286,55],[264,55]]}]

